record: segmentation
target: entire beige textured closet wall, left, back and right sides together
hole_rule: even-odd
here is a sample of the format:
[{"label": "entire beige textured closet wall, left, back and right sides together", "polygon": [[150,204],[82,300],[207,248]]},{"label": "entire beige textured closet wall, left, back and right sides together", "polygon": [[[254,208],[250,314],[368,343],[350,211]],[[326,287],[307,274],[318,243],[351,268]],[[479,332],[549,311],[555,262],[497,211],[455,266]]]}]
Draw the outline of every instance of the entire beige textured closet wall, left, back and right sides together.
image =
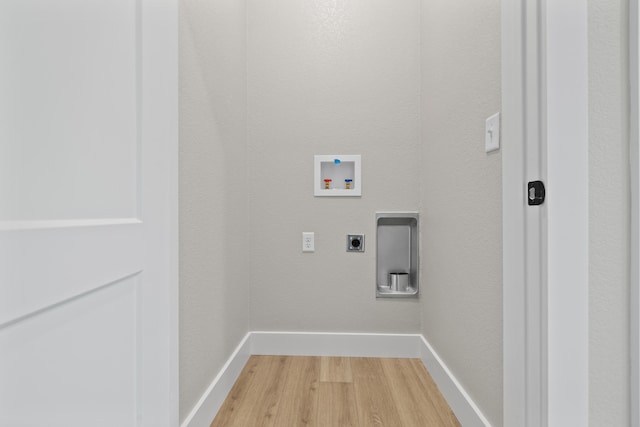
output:
[{"label": "entire beige textured closet wall, left, back and right sides together", "polygon": [[[389,332],[424,334],[500,425],[499,9],[181,3],[183,419],[249,330]],[[314,154],[362,155],[362,197],[314,197]],[[376,299],[375,213],[418,210],[420,299]]]}]

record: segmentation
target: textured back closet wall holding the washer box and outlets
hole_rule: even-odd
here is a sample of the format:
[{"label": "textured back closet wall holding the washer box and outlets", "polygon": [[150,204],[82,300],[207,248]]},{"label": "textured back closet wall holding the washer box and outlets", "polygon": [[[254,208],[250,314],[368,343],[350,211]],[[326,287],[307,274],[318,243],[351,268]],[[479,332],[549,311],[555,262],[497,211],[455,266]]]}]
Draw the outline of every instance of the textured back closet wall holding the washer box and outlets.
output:
[{"label": "textured back closet wall holding the washer box and outlets", "polygon": [[[417,301],[375,298],[374,222],[418,208],[419,0],[249,0],[247,22],[251,329],[418,332]],[[314,198],[314,154],[361,154],[362,197]]]}]

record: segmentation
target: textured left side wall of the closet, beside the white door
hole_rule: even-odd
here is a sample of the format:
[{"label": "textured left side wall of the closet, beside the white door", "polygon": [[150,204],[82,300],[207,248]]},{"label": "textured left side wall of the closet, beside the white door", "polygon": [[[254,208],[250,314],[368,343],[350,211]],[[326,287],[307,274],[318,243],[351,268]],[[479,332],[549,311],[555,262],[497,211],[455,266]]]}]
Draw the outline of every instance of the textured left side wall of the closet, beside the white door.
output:
[{"label": "textured left side wall of the closet, beside the white door", "polygon": [[245,6],[180,2],[180,419],[248,331]]}]

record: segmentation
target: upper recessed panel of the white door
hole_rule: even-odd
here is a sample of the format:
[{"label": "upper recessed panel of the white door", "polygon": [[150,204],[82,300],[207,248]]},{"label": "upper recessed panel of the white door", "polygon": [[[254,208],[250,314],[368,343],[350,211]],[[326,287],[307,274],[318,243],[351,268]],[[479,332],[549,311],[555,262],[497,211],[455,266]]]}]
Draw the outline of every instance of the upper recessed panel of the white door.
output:
[{"label": "upper recessed panel of the white door", "polygon": [[0,2],[0,219],[136,214],[135,0]]}]

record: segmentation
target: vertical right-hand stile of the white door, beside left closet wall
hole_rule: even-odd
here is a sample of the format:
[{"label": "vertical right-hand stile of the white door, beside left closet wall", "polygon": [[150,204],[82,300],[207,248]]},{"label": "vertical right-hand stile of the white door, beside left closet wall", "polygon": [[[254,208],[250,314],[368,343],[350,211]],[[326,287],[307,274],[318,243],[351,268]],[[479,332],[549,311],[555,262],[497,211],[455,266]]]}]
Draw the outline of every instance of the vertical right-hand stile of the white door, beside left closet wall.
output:
[{"label": "vertical right-hand stile of the white door, beside left closet wall", "polygon": [[[149,323],[141,325],[143,338],[153,342],[156,354],[141,355],[141,375],[155,390],[145,390],[140,402],[145,414],[144,426],[177,426],[179,413],[179,253],[178,253],[178,1],[138,0],[142,14],[141,51],[145,61],[153,64],[141,70],[141,126],[147,130],[141,136],[148,144],[147,158],[141,165],[141,185],[148,198],[139,213],[150,225],[144,239],[152,242],[153,251],[145,261],[157,263],[156,275],[149,277],[151,287],[157,287],[161,297],[153,305],[143,305]],[[162,70],[162,72],[158,72]],[[149,106],[149,108],[145,108]],[[154,106],[151,108],[150,106]],[[150,112],[153,111],[153,114]],[[146,171],[145,172],[145,168]],[[144,179],[145,175],[162,177],[160,182]],[[145,209],[154,214],[147,218]],[[151,222],[153,221],[153,222]],[[158,230],[163,230],[158,233]],[[145,290],[141,291],[145,301]],[[155,323],[152,323],[155,322]],[[167,333],[162,336],[162,333]],[[162,375],[158,378],[158,372]]]}]

